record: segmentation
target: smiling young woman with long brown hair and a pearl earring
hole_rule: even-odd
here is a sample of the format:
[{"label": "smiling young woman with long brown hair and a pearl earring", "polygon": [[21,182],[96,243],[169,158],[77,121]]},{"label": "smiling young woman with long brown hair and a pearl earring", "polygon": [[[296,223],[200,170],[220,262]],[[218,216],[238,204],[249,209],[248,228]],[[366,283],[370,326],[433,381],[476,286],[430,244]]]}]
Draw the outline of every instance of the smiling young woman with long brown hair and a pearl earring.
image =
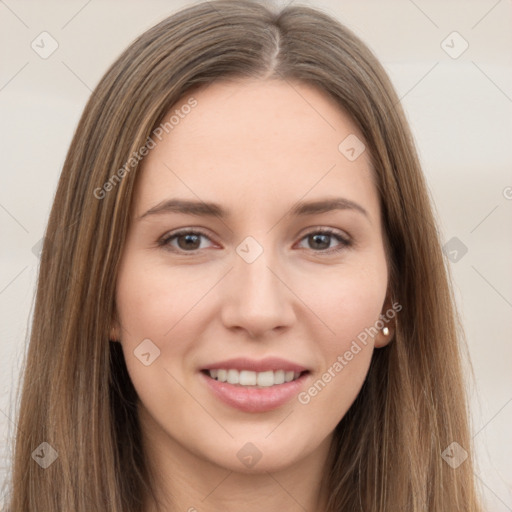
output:
[{"label": "smiling young woman with long brown hair and a pearl earring", "polygon": [[368,48],[246,0],[140,36],[62,171],[9,510],[480,511],[466,403],[427,188]]}]

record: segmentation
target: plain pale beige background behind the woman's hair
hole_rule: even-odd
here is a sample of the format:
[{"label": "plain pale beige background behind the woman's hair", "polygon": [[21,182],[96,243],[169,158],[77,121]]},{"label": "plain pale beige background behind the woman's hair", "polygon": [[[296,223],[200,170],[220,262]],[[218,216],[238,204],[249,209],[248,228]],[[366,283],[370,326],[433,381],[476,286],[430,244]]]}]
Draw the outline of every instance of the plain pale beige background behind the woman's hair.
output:
[{"label": "plain pale beige background behind the woman's hair", "polygon": [[[512,511],[512,4],[303,3],[336,16],[380,58],[412,125],[443,243],[467,247],[450,267],[475,371],[477,481],[489,511]],[[73,131],[119,53],[186,4],[0,0],[0,487],[38,271],[32,248]],[[47,59],[31,48],[43,31],[58,43]],[[441,46],[453,31],[469,45],[458,58]],[[452,52],[463,48],[457,37],[444,43]]]}]

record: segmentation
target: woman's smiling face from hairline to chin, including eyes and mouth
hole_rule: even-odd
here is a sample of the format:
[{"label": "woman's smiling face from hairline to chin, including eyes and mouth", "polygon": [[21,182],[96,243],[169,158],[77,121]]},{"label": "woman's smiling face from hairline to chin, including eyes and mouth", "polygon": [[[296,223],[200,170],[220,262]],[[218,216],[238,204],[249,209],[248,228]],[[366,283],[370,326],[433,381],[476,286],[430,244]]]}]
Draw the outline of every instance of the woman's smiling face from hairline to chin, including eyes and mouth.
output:
[{"label": "woman's smiling face from hairline to chin, including eyes and mouth", "polygon": [[[193,98],[138,176],[114,336],[161,450],[283,469],[325,454],[391,338],[376,334],[388,269],[370,159],[305,84],[218,82]],[[338,207],[311,206],[327,200]]]}]

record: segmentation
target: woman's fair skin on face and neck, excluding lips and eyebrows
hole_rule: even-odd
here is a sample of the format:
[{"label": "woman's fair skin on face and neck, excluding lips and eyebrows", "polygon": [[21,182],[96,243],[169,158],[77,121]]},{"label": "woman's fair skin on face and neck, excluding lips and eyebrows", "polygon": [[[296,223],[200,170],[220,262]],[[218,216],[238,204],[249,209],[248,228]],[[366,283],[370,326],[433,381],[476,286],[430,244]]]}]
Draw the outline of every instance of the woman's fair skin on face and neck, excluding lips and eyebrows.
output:
[{"label": "woman's fair skin on face and neck, excluding lips and eyebrows", "polygon": [[[369,338],[307,404],[294,397],[273,411],[242,412],[219,401],[199,370],[231,357],[276,356],[310,369],[307,390],[386,311],[388,267],[368,151],[349,161],[338,150],[348,135],[363,137],[306,84],[225,81],[193,96],[197,106],[144,159],[112,332],[140,397],[162,510],[321,511],[333,430],[359,393],[374,348],[392,338],[391,322],[388,336]],[[213,201],[232,215],[138,219],[177,197]],[[332,197],[367,215],[288,214],[299,200]],[[179,228],[206,237],[158,245]],[[353,243],[334,236],[315,243],[307,235],[318,228]],[[236,252],[247,236],[263,249],[252,263]],[[134,350],[148,338],[160,355],[145,366]],[[262,455],[251,468],[237,457],[248,442]],[[149,503],[147,510],[154,510]]]}]

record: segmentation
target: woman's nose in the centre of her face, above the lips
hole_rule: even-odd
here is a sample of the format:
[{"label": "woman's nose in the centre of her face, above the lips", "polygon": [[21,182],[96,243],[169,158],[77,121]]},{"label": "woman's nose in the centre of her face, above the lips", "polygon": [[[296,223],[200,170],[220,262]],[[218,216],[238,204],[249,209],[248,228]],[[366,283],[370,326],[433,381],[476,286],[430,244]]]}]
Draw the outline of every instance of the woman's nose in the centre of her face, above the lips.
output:
[{"label": "woman's nose in the centre of her face, above the lips", "polygon": [[223,324],[230,330],[244,330],[251,338],[283,330],[295,320],[293,287],[270,254],[264,250],[252,263],[235,254],[234,268],[226,276]]}]

